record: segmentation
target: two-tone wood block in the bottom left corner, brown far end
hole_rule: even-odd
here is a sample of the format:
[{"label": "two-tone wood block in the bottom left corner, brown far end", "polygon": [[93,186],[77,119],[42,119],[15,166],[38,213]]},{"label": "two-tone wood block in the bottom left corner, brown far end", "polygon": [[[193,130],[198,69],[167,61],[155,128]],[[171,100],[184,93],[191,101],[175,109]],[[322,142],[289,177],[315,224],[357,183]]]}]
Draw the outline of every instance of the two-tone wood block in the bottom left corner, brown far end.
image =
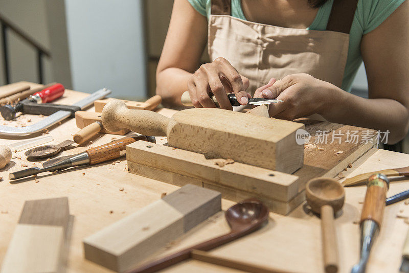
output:
[{"label": "two-tone wood block in the bottom left corner, brown far end", "polygon": [[67,197],[26,201],[1,272],[59,272],[69,216]]}]

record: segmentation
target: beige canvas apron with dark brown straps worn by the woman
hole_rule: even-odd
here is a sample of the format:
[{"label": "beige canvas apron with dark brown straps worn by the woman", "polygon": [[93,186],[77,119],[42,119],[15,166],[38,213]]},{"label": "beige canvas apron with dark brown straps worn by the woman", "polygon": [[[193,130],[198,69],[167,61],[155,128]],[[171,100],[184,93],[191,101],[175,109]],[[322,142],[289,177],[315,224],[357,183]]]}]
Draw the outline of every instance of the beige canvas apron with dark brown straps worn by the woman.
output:
[{"label": "beige canvas apron with dark brown straps worn by the woman", "polygon": [[230,16],[230,0],[212,0],[208,50],[247,77],[247,92],[270,78],[307,73],[341,87],[357,0],[334,0],[327,30],[269,26]]}]

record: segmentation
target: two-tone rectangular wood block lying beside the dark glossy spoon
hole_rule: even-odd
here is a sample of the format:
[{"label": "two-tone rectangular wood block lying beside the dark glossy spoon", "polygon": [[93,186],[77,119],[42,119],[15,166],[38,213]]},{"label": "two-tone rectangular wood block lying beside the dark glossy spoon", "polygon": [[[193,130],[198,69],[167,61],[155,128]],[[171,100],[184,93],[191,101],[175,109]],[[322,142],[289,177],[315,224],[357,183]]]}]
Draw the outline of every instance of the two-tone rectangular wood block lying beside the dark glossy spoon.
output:
[{"label": "two-tone rectangular wood block lying beside the dark glossy spoon", "polygon": [[221,194],[186,185],[85,238],[85,259],[125,271],[221,210]]}]

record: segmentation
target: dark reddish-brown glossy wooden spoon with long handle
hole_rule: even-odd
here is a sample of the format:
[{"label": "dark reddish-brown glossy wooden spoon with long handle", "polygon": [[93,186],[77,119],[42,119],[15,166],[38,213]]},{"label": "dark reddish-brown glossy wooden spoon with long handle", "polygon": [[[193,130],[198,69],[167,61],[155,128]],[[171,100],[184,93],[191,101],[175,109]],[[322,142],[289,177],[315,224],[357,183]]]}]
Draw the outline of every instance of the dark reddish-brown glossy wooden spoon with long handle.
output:
[{"label": "dark reddish-brown glossy wooden spoon with long handle", "polygon": [[217,246],[231,242],[244,235],[258,230],[268,221],[268,208],[256,199],[247,199],[232,206],[225,214],[230,225],[231,232],[222,236],[210,239],[209,241],[196,244],[183,249],[175,254],[171,254],[161,259],[157,259],[141,267],[128,271],[129,273],[156,272],[178,262],[191,258],[192,250],[209,251]]}]

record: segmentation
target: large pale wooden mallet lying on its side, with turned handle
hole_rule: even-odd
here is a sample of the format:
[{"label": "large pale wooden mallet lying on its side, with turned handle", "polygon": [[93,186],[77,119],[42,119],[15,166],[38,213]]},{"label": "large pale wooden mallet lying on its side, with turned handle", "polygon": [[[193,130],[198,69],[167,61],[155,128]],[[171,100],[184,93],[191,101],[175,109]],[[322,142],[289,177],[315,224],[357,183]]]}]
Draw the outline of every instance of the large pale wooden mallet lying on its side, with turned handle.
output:
[{"label": "large pale wooden mallet lying on its side, with turned handle", "polygon": [[[213,158],[292,173],[303,165],[304,147],[295,141],[304,124],[270,120],[219,108],[192,108],[167,118],[147,110],[130,110],[120,100],[108,102],[102,125],[109,131],[132,131],[167,137],[169,146]],[[277,152],[282,151],[282,152]]]}]

